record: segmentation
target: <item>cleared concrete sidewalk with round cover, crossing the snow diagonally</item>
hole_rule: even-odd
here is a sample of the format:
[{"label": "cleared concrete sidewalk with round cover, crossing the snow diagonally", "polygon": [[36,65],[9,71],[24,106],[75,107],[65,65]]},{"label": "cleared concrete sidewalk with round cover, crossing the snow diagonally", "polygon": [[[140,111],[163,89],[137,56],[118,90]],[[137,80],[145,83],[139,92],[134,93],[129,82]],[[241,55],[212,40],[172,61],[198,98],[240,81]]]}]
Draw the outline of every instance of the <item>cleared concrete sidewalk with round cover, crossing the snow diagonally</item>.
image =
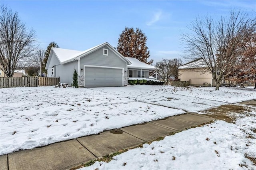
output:
[{"label": "cleared concrete sidewalk with round cover, crossing the snow diagonally", "polygon": [[214,120],[186,113],[0,156],[1,170],[62,170]]}]

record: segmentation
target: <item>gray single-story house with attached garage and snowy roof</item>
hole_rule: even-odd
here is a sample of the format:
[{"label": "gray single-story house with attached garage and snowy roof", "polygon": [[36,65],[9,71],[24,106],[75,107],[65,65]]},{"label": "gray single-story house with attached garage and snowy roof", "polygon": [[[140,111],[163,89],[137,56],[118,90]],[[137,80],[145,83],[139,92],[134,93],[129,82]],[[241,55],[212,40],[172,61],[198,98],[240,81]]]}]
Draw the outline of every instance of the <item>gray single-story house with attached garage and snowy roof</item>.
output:
[{"label": "gray single-story house with attached garage and snowy roof", "polygon": [[126,86],[128,77],[149,77],[154,66],[124,57],[108,42],[85,51],[52,47],[46,63],[47,77],[72,83],[74,69],[80,87]]}]

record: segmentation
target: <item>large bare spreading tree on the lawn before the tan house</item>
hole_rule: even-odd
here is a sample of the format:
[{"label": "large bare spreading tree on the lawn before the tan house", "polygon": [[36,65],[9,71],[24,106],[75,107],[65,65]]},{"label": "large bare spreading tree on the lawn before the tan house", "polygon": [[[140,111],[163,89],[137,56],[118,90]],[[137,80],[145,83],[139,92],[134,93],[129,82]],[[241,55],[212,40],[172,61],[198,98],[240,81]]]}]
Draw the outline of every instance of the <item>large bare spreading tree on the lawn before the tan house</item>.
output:
[{"label": "large bare spreading tree on the lawn before the tan house", "polygon": [[250,18],[248,14],[235,10],[230,11],[228,17],[196,19],[188,27],[191,33],[182,38],[186,45],[184,58],[190,61],[201,59],[202,64],[197,67],[212,73],[215,90],[219,90],[222,77],[234,69],[239,44],[255,30],[255,26],[255,16]]}]

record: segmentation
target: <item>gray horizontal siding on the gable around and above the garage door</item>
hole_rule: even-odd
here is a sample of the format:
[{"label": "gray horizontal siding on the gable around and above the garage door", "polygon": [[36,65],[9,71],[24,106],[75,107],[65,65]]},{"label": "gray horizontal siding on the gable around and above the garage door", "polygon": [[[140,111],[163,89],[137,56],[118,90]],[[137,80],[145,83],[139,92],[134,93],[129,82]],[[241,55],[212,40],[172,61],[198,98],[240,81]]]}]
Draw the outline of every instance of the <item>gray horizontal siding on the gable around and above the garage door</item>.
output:
[{"label": "gray horizontal siding on the gable around and above the garage door", "polygon": [[[103,55],[103,48],[108,49],[108,56]],[[118,57],[114,52],[108,48],[108,45],[80,58],[80,69],[84,68],[84,65],[96,65],[107,67],[122,67],[126,70],[126,61]],[[80,75],[83,75],[83,71],[80,71]]]}]

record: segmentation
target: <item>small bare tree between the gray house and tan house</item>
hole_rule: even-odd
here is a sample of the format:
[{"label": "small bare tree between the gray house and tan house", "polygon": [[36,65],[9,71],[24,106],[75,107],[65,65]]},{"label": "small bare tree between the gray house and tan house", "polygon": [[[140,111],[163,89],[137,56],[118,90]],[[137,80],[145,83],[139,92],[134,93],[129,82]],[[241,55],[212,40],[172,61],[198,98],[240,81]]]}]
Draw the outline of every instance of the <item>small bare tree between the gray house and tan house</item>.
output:
[{"label": "small bare tree between the gray house and tan house", "polygon": [[163,79],[164,84],[168,85],[168,79],[172,75],[172,60],[162,59],[161,61],[156,62],[155,67],[158,75]]}]

